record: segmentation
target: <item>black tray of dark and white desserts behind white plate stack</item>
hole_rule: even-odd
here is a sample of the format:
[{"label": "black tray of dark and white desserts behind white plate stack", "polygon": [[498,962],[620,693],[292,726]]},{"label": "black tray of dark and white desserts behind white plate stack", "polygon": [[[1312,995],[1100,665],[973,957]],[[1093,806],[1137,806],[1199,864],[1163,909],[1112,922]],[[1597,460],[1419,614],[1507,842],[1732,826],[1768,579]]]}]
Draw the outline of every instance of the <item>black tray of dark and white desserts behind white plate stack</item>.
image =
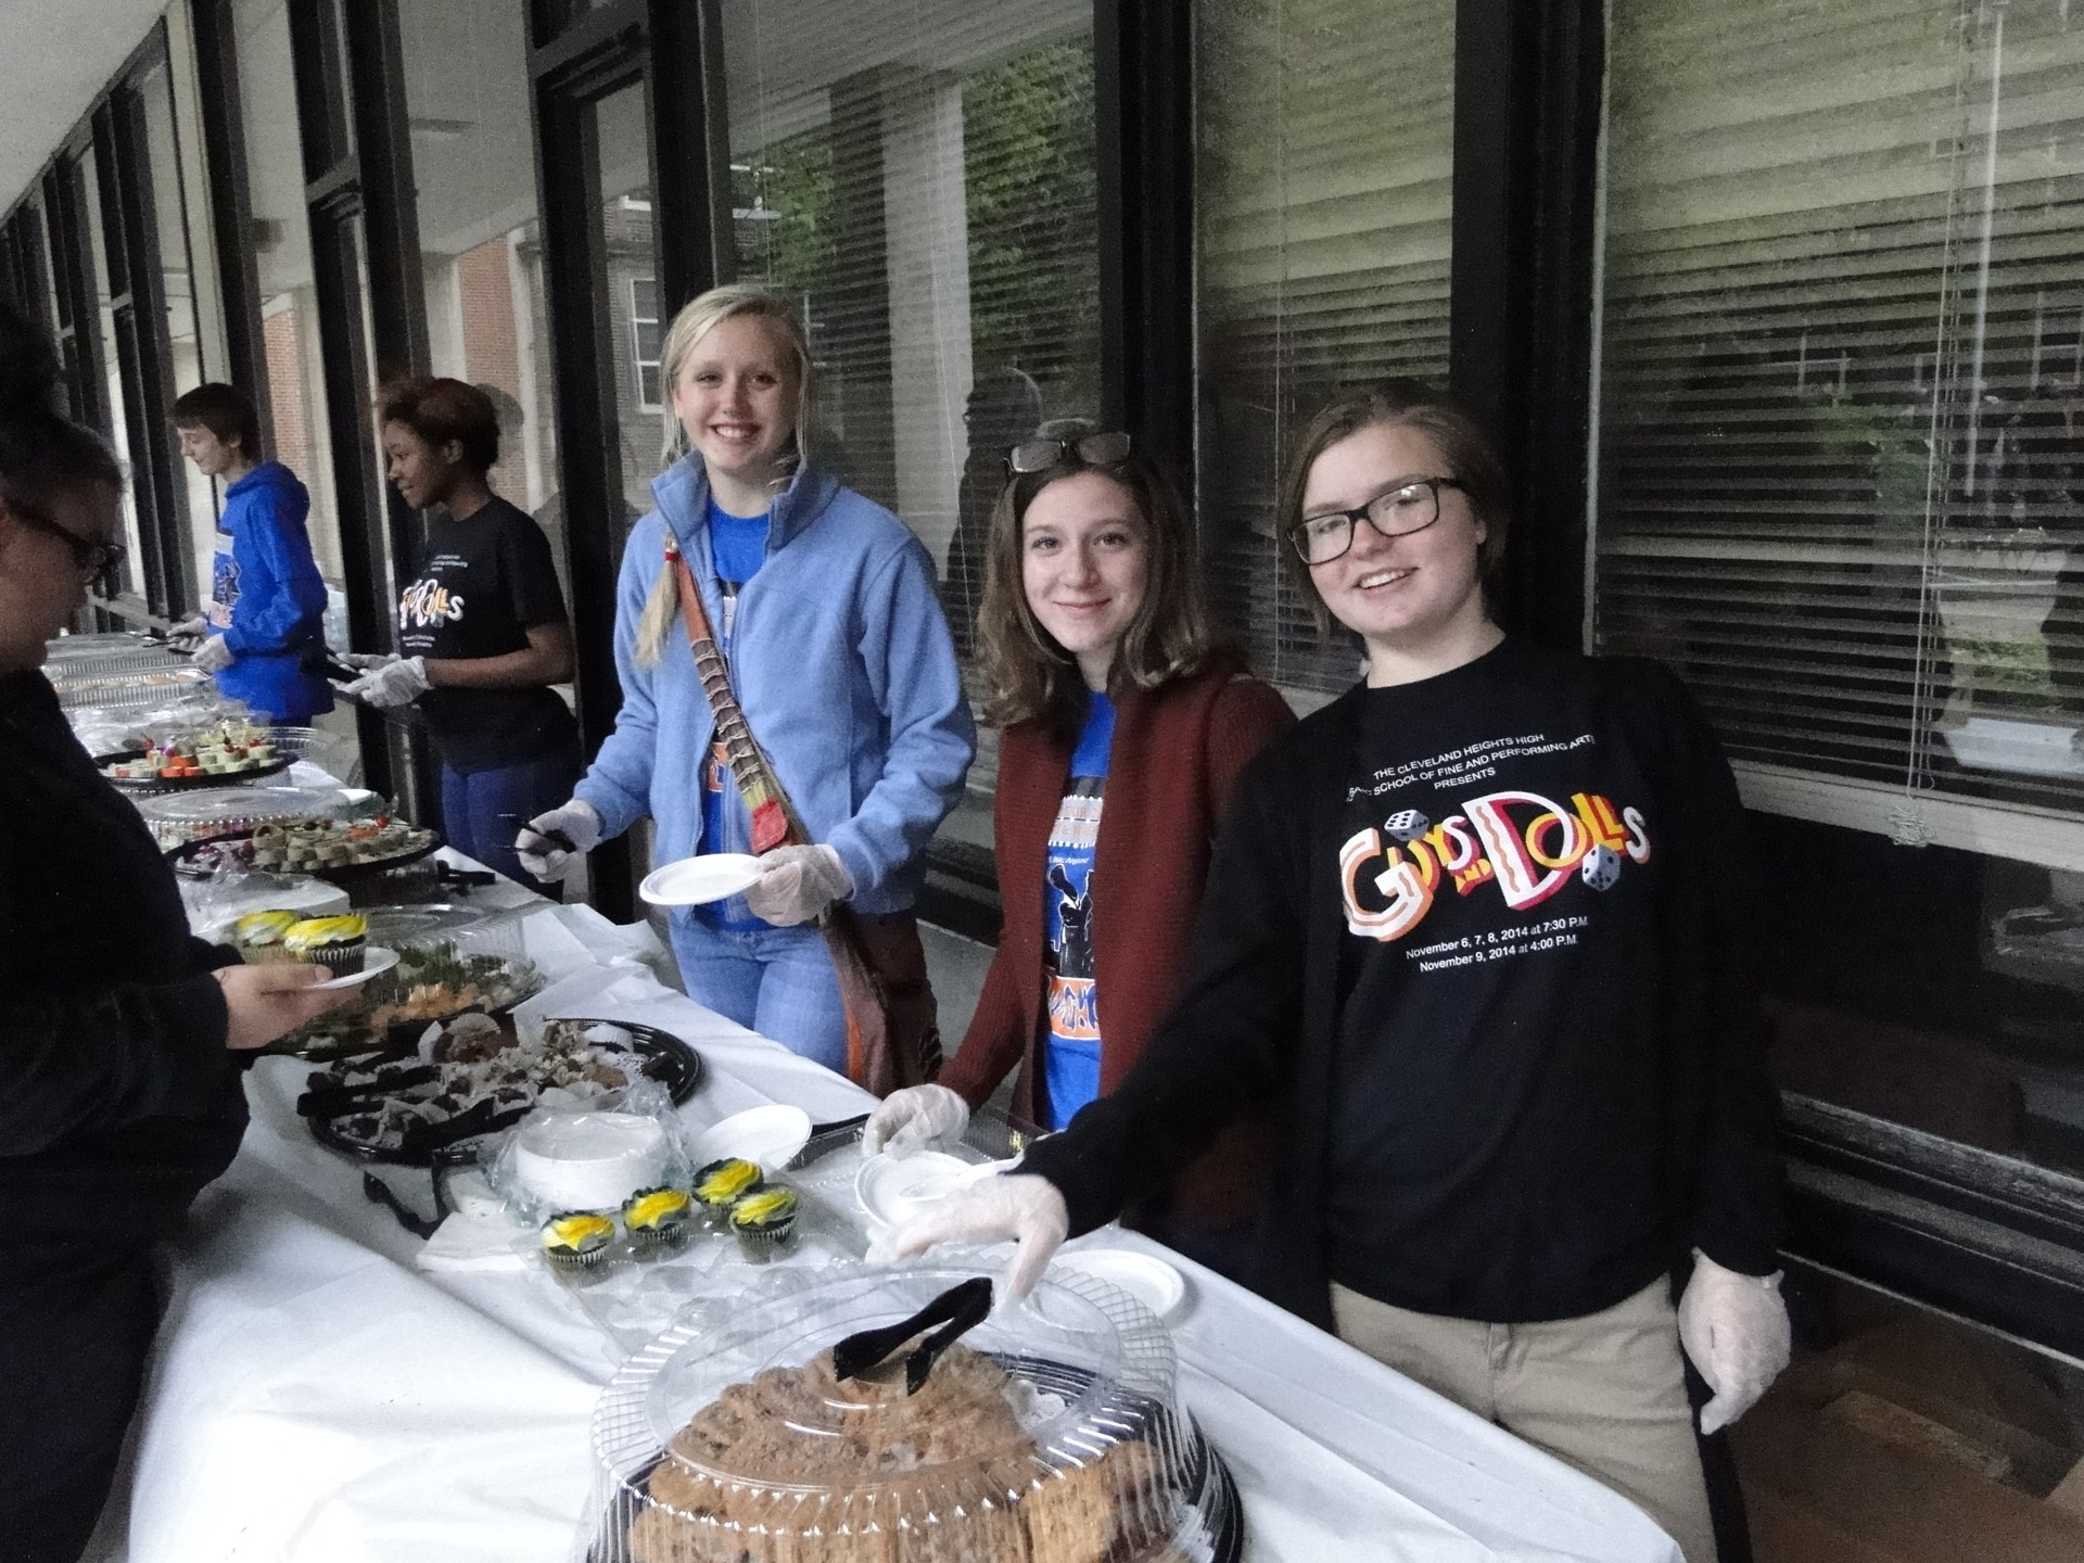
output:
[{"label": "black tray of dark and white desserts behind white plate stack", "polygon": [[319,1144],[346,1157],[431,1167],[536,1105],[611,1107],[636,1075],[684,1102],[702,1082],[702,1059],[652,1025],[556,1019],[523,1042],[508,1023],[463,1015],[425,1027],[411,1052],[313,1071],[296,1111]]}]

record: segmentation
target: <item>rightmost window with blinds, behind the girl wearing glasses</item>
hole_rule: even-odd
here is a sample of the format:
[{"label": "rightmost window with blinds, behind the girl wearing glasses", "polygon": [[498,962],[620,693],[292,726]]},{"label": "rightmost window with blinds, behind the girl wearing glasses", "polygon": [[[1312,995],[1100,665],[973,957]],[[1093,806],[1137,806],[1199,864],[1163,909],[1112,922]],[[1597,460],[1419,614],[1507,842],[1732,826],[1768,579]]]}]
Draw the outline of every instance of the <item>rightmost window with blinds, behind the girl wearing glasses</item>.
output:
[{"label": "rightmost window with blinds, behind the girl wearing glasses", "polygon": [[2084,6],[1617,0],[1592,638],[1753,807],[2084,867]]}]

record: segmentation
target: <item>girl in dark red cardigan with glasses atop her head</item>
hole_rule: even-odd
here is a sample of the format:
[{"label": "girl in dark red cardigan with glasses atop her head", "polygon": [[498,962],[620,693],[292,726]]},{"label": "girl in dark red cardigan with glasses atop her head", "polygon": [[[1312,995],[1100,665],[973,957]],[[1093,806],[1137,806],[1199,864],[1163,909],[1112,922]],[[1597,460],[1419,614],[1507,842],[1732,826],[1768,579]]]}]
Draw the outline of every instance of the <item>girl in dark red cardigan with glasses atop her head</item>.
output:
[{"label": "girl in dark red cardigan with glasses atop her head", "polygon": [[[1215,646],[1171,486],[1127,436],[1050,425],[992,513],[979,650],[1000,725],[1004,925],[938,1086],[892,1094],[867,1148],[961,1132],[1017,1069],[1013,1113],[1063,1127],[1136,1063],[1171,1004],[1215,823],[1292,713]],[[1142,1225],[1215,1257],[1248,1219],[1250,1127]]]}]

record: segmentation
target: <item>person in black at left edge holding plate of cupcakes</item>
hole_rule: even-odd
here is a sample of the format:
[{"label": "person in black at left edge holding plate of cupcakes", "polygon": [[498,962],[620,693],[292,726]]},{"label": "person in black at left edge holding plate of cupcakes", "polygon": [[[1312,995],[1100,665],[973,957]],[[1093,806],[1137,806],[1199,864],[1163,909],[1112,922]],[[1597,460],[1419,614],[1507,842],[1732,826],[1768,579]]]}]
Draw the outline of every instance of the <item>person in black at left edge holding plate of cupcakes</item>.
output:
[{"label": "person in black at left edge holding plate of cupcakes", "polygon": [[138,1403],[148,1257],[240,1146],[238,1052],[329,1009],[313,965],[188,936],[173,871],[73,738],[44,642],[121,552],[123,471],[52,411],[0,302],[0,1559],[71,1563]]}]

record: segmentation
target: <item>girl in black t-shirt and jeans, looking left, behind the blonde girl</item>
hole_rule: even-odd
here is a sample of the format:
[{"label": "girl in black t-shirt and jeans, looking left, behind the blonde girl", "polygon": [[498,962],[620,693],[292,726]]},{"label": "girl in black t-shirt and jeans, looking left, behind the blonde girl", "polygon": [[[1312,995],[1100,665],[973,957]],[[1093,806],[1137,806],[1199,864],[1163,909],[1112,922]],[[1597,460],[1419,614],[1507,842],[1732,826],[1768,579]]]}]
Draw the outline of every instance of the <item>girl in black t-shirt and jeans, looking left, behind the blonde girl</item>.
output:
[{"label": "girl in black t-shirt and jeans, looking left, behind the blonde girl", "polygon": [[[383,392],[383,454],[406,504],[431,508],[427,546],[398,598],[398,656],[348,694],[415,704],[442,754],[442,832],[511,879],[561,896],[515,857],[515,821],[571,796],[579,729],[552,690],[571,677],[571,619],[550,542],[492,492],[500,454],[492,398],[461,379]],[[438,508],[436,508],[438,506]]]}]

